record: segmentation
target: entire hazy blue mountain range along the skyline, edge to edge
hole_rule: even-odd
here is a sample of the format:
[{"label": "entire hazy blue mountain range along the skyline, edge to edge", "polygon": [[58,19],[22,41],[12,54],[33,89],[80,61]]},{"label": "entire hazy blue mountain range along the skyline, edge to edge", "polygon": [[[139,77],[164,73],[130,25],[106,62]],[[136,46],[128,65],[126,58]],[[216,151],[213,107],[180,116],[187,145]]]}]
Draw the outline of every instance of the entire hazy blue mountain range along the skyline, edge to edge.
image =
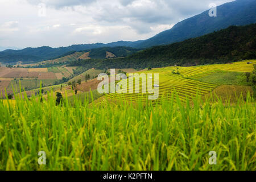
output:
[{"label": "entire hazy blue mountain range along the skyline, edge to edge", "polygon": [[250,23],[256,23],[255,7],[255,0],[237,0],[225,3],[224,5],[217,7],[217,17],[210,17],[208,10],[177,23],[170,30],[160,32],[160,34],[155,35],[150,39],[139,40],[137,42],[119,41],[109,44],[81,44],[59,48],[39,47],[26,48],[18,51],[5,50],[0,52],[0,62],[11,63],[23,61],[23,63],[34,63],[53,59],[54,57],[64,55],[71,51],[83,51],[94,48],[116,46],[148,48],[151,46],[181,42],[183,40],[206,35],[232,25],[243,26]]}]

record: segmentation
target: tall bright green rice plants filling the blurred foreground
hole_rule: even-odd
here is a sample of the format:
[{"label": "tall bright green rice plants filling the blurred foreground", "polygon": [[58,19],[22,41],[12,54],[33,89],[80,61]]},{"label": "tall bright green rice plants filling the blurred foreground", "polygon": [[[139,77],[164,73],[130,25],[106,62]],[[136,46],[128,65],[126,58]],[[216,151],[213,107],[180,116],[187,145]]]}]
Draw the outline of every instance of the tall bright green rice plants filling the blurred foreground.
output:
[{"label": "tall bright green rice plants filling the blurred foreground", "polygon": [[[100,103],[15,95],[0,100],[0,170],[255,170],[256,108],[119,98]],[[46,165],[39,165],[39,151]],[[217,154],[209,164],[209,152]]]}]

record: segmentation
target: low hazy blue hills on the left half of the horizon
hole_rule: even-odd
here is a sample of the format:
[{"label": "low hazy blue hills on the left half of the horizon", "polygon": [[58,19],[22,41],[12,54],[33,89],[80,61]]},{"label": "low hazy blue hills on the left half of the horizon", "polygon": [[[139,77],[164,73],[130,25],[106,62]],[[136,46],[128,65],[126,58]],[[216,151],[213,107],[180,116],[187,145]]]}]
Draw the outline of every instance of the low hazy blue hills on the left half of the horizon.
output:
[{"label": "low hazy blue hills on the left half of the horizon", "polygon": [[[73,57],[72,55],[76,52],[90,52],[90,58],[94,59],[105,59],[106,52],[113,53],[114,57],[126,57],[137,52],[139,49],[131,48],[131,47],[101,47],[101,44],[95,44],[93,47],[87,49],[90,46],[88,45],[73,45],[70,47],[62,47],[62,48],[51,48],[51,47],[40,47],[40,48],[26,48],[18,51],[14,50],[6,50],[0,52],[0,62],[2,63],[16,63],[18,61],[22,61],[23,64],[30,63],[39,63],[40,61],[49,60],[51,62],[65,62],[65,61],[73,61],[79,59],[80,57]],[[85,48],[85,49],[83,49]],[[75,51],[72,51],[75,49]],[[32,53],[32,54],[31,54]],[[31,54],[31,55],[29,55]],[[67,59],[66,59],[67,58]],[[72,59],[70,59],[72,58]],[[81,57],[83,59],[83,57]]]}]

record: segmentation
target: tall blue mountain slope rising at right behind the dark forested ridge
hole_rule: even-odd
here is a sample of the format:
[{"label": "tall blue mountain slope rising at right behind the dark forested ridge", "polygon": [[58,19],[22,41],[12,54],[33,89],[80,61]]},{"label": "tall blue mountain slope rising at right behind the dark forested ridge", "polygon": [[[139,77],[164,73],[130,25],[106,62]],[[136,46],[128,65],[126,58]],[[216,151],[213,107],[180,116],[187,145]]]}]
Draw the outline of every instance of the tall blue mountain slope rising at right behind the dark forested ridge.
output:
[{"label": "tall blue mountain slope rising at right behind the dark forested ridge", "polygon": [[243,26],[256,23],[256,1],[237,0],[217,7],[217,16],[210,17],[209,10],[177,23],[170,30],[144,40],[136,47],[145,48],[181,42],[196,38],[229,26]]}]

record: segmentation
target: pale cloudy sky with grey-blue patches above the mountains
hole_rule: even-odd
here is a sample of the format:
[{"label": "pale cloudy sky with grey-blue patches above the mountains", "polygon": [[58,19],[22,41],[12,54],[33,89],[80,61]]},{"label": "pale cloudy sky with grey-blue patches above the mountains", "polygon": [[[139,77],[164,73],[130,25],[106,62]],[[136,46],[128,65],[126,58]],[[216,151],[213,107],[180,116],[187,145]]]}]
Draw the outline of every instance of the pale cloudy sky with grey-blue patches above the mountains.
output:
[{"label": "pale cloudy sky with grey-blue patches above the mountains", "polygon": [[135,41],[233,0],[0,0],[0,47]]}]

